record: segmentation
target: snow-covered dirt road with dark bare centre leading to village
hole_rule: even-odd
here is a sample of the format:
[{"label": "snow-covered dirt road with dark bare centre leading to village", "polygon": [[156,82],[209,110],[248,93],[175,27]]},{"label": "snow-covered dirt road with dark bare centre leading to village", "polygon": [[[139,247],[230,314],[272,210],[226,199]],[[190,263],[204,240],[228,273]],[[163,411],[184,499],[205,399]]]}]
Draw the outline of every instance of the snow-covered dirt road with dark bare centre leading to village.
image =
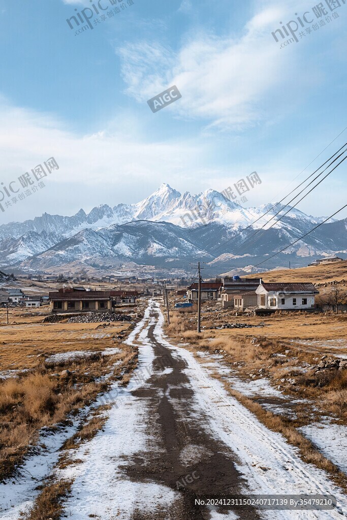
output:
[{"label": "snow-covered dirt road with dark bare centre leading to village", "polygon": [[[73,520],[200,520],[341,518],[346,500],[323,471],[305,464],[185,348],[165,340],[152,301],[127,340],[138,342],[139,368],[111,402],[103,430],[76,449],[66,515]],[[201,495],[331,494],[329,511],[223,511],[196,505]],[[18,510],[18,509],[17,509]],[[1,515],[0,515],[1,516]],[[16,516],[5,514],[6,520]]]}]

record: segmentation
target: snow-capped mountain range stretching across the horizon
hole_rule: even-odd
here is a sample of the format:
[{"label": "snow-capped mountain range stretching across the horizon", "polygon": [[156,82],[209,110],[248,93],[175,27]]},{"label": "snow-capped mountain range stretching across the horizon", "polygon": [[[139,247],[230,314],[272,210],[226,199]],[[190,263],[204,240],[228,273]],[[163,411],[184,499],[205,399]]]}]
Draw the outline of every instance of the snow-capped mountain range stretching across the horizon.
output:
[{"label": "snow-capped mountain range stretching across the horizon", "polygon": [[[262,262],[325,220],[291,208],[281,222],[268,223],[284,207],[273,206],[246,208],[211,189],[192,196],[163,184],[136,204],[99,205],[73,216],[44,213],[1,225],[0,267],[16,272],[67,272],[76,266],[105,271],[133,263],[135,268],[188,271],[189,262],[200,260],[213,275],[236,272]],[[347,219],[331,220],[269,259],[262,270],[289,261],[293,267],[307,265],[308,256],[311,262],[345,253],[346,239]]]}]

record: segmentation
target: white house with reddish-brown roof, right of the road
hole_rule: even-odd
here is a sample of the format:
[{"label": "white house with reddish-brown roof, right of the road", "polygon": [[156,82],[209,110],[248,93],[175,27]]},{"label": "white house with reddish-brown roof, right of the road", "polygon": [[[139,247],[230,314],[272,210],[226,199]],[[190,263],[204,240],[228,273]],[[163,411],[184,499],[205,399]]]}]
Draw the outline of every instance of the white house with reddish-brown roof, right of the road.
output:
[{"label": "white house with reddish-brown roof, right of the road", "polygon": [[265,283],[255,291],[258,308],[268,310],[305,310],[315,306],[319,291],[313,283]]}]

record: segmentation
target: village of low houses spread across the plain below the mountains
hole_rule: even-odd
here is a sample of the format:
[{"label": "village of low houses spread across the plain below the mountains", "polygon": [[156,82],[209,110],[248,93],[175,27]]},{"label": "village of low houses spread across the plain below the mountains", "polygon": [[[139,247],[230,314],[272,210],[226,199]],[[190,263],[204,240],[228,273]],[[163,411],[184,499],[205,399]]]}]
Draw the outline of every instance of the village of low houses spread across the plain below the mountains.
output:
[{"label": "village of low houses spread across the plain below the mountains", "polygon": [[[312,264],[344,262],[338,256],[322,258]],[[106,284],[117,283],[117,288],[96,289],[75,285],[71,279],[58,277],[37,276],[30,277],[32,281],[61,282],[62,287],[48,294],[26,294],[24,289],[0,289],[1,306],[41,307],[50,305],[52,313],[81,313],[84,311],[112,312],[120,305],[136,304],[139,298],[158,297],[163,295],[163,280],[138,278],[136,276],[108,276],[101,282]],[[123,288],[122,288],[123,284]],[[200,285],[200,287],[199,287]],[[133,287],[132,287],[133,286]],[[336,296],[335,301],[330,298],[320,298],[318,284],[311,282],[265,282],[262,278],[241,278],[239,276],[216,278],[197,281],[188,285],[185,278],[174,280],[166,279],[165,288],[175,297],[174,308],[191,307],[198,303],[199,291],[201,302],[220,304],[221,309],[230,309],[239,312],[254,314],[271,314],[276,311],[317,311],[317,310],[347,310],[347,301],[342,296]],[[337,289],[335,289],[337,291]]]}]

